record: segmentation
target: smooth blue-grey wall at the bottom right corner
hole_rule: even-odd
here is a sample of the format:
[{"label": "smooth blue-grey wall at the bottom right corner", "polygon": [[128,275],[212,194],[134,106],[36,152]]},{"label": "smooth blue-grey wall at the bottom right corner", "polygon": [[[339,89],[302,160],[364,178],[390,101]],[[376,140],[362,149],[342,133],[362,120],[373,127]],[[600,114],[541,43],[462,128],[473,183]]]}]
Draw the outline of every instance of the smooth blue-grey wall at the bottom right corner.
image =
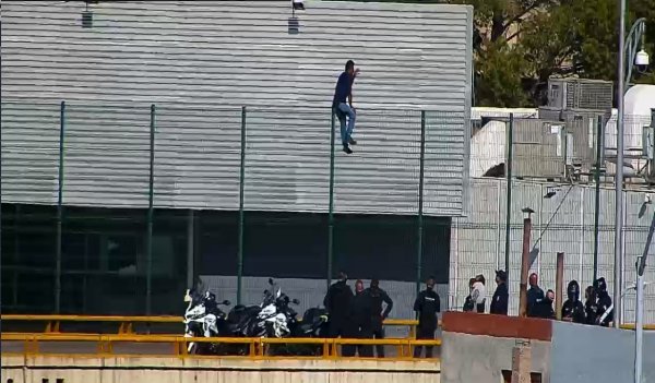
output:
[{"label": "smooth blue-grey wall at the bottom right corner", "polygon": [[[634,379],[634,333],[553,322],[550,383]],[[644,333],[643,382],[655,382],[655,333]]]}]

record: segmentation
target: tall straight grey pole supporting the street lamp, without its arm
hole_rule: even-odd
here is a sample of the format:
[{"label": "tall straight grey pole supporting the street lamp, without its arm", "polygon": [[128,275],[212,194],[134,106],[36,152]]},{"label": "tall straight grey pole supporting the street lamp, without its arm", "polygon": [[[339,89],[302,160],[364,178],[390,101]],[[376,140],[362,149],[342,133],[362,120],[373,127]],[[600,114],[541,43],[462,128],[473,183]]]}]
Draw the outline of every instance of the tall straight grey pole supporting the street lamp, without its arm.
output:
[{"label": "tall straight grey pole supporting the street lamp, without its arm", "polygon": [[618,117],[617,117],[617,176],[615,181],[615,321],[614,326],[621,325],[621,289],[623,263],[623,108],[626,75],[626,0],[619,1],[619,68],[618,68]]}]

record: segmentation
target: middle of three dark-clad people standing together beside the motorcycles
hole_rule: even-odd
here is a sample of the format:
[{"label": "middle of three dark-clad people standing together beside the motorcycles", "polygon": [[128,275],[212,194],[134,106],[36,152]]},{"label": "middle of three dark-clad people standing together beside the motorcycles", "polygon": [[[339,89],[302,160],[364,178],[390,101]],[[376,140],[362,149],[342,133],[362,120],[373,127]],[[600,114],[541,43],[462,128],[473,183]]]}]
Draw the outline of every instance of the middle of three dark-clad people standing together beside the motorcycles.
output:
[{"label": "middle of three dark-clad people standing together beside the motorcycles", "polygon": [[[349,338],[370,339],[372,333],[373,304],[371,297],[365,291],[364,283],[355,283],[355,297],[350,304]],[[357,354],[362,358],[371,358],[373,348],[370,345],[357,345]]]}]

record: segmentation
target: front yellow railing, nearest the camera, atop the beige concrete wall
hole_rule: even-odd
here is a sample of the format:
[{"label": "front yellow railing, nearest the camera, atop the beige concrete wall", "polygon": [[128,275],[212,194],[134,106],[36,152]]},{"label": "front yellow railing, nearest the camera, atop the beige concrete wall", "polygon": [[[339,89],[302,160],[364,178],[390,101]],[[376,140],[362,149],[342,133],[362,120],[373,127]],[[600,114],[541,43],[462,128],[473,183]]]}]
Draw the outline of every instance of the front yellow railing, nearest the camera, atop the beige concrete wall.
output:
[{"label": "front yellow railing, nearest the camera, atop the beige concrete wall", "polygon": [[[250,358],[250,359],[275,359],[275,358],[310,358],[310,359],[341,359],[337,346],[344,345],[366,345],[366,346],[393,346],[396,349],[395,356],[389,356],[385,360],[413,360],[413,349],[416,346],[441,346],[440,339],[416,340],[416,339],[344,339],[344,338],[194,338],[183,336],[166,335],[95,335],[95,334],[27,334],[27,333],[2,333],[2,342],[22,343],[22,351],[7,351],[3,347],[3,355],[22,356],[48,356],[62,355],[55,352],[44,352],[40,345],[44,343],[94,343],[96,344],[96,355],[99,357],[133,356],[129,352],[115,352],[116,344],[135,343],[135,344],[168,344],[170,345],[170,356],[181,358],[194,357],[188,354],[188,345],[194,343],[213,344],[240,344],[248,345],[248,352],[242,356],[228,355],[227,358]],[[271,345],[317,345],[321,347],[321,352],[313,357],[298,356],[275,356],[269,355]],[[66,352],[67,356],[74,356],[74,352]],[[88,356],[88,354],[84,354]],[[143,354],[139,354],[143,357]],[[364,358],[366,359],[366,358]],[[420,360],[438,360],[437,358]]]}]

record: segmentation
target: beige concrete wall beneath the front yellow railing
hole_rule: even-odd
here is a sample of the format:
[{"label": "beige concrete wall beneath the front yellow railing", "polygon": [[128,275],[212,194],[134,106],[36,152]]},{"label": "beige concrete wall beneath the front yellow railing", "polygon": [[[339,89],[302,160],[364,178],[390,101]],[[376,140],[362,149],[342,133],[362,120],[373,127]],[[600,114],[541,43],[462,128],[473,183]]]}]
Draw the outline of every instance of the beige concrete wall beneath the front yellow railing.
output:
[{"label": "beige concrete wall beneath the front yellow railing", "polygon": [[2,379],[14,383],[439,383],[432,362],[71,358],[2,356]]}]

